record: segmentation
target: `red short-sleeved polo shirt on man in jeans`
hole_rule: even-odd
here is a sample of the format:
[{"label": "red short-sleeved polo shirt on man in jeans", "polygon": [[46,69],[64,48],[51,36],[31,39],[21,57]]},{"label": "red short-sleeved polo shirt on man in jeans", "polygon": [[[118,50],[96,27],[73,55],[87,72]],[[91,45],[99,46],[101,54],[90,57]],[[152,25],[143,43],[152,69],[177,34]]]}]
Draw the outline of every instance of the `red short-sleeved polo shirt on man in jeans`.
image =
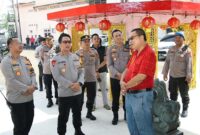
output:
[{"label": "red short-sleeved polo shirt on man in jeans", "polygon": [[146,88],[153,88],[154,74],[156,70],[156,55],[149,45],[137,56],[138,52],[133,52],[131,59],[127,65],[127,72],[125,74],[124,81],[127,83],[137,74],[147,75],[146,79],[135,87],[129,88],[129,90],[141,90]]}]

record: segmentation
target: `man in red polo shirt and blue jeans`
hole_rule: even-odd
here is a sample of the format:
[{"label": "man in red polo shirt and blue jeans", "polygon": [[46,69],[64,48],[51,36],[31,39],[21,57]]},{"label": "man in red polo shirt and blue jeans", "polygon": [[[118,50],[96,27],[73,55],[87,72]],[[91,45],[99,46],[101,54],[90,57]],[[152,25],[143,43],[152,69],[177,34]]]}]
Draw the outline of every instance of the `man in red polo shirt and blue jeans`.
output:
[{"label": "man in red polo shirt and blue jeans", "polygon": [[129,43],[134,51],[120,81],[126,96],[128,128],[131,135],[154,135],[151,110],[156,55],[140,28],[131,31]]}]

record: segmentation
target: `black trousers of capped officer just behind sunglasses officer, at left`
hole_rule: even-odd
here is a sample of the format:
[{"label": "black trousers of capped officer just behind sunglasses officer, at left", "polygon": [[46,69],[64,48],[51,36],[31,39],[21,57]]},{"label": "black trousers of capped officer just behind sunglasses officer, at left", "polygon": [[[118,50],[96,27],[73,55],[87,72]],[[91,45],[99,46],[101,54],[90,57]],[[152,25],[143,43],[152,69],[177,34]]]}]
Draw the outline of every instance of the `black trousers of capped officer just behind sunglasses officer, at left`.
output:
[{"label": "black trousers of capped officer just behind sunglasses officer, at left", "polygon": [[52,98],[52,80],[55,88],[55,98],[58,98],[58,83],[54,80],[52,74],[44,74],[44,84],[46,88],[46,98]]}]

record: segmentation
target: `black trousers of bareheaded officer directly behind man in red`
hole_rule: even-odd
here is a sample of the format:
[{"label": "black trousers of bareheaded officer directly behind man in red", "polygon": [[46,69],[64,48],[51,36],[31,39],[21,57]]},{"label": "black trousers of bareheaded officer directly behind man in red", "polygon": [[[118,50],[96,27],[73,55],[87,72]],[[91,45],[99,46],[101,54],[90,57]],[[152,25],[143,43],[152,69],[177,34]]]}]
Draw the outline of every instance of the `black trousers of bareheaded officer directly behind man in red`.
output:
[{"label": "black trousers of bareheaded officer directly behind man in red", "polygon": [[[111,93],[112,93],[112,111],[118,112],[119,110],[119,99],[120,99],[120,81],[114,78],[110,78],[110,84],[111,84]],[[125,109],[125,96],[122,96],[122,101],[123,101],[123,109]]]}]

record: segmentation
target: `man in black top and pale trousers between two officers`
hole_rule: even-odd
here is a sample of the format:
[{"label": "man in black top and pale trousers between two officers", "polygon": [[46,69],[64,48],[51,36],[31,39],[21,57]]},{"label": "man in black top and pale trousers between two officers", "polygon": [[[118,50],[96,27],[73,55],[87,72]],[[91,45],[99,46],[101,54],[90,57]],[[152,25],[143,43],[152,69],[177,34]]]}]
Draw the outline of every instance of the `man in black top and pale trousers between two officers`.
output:
[{"label": "man in black top and pale trousers between two officers", "polygon": [[98,34],[93,34],[92,38],[92,48],[96,49],[99,54],[100,64],[97,69],[97,81],[102,93],[103,105],[104,108],[110,110],[108,105],[108,96],[107,96],[107,62],[106,62],[106,47],[102,46],[101,39]]}]

